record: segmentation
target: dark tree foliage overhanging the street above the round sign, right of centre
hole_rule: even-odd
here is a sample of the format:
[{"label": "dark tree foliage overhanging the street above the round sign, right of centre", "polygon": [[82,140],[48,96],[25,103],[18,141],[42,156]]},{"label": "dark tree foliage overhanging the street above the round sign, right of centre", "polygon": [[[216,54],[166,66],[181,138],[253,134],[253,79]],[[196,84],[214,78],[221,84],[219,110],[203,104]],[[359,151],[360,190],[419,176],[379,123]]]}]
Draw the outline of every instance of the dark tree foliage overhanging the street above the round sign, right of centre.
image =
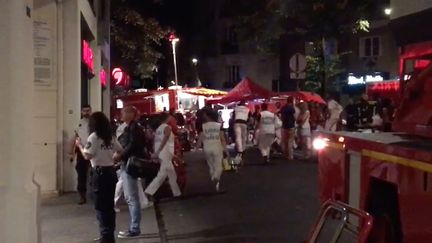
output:
[{"label": "dark tree foliage overhanging the street above the round sign, right of centre", "polygon": [[314,75],[318,82],[315,86],[321,87],[322,94],[326,93],[327,83],[333,77],[327,72],[328,67],[334,64],[333,61],[326,63],[334,59],[326,53],[327,40],[346,33],[367,31],[367,19],[381,10],[376,7],[380,0],[252,1],[258,1],[259,4],[247,7],[250,0],[227,3],[231,12],[238,11],[240,15],[236,21],[240,38],[254,42],[258,50],[273,52],[278,52],[279,40],[284,34],[296,35],[315,45],[321,45],[314,56],[309,58],[309,63],[315,65],[309,70],[320,70],[321,77],[316,76],[316,73]]}]

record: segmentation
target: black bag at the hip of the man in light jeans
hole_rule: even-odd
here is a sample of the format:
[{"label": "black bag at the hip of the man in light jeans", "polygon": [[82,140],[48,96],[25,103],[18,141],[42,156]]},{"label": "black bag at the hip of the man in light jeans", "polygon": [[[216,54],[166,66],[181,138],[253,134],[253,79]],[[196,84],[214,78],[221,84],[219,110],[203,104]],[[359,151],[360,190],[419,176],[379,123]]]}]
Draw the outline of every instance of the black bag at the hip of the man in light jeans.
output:
[{"label": "black bag at the hip of the man in light jeans", "polygon": [[158,160],[143,159],[131,156],[126,163],[126,173],[134,178],[145,178],[152,180],[159,171]]}]

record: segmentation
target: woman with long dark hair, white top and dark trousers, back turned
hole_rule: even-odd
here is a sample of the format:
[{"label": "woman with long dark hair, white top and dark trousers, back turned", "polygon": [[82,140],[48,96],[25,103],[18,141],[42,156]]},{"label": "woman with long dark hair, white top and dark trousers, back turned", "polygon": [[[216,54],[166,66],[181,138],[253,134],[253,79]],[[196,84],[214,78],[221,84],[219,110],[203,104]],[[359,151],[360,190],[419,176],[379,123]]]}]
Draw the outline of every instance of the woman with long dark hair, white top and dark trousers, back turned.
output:
[{"label": "woman with long dark hair, white top and dark trousers, back turned", "polygon": [[84,158],[90,160],[94,192],[94,206],[99,221],[100,242],[113,243],[115,230],[114,190],[117,175],[113,156],[121,153],[122,147],[112,136],[108,118],[102,112],[95,112],[89,120],[90,136],[85,147],[80,138],[76,146]]}]

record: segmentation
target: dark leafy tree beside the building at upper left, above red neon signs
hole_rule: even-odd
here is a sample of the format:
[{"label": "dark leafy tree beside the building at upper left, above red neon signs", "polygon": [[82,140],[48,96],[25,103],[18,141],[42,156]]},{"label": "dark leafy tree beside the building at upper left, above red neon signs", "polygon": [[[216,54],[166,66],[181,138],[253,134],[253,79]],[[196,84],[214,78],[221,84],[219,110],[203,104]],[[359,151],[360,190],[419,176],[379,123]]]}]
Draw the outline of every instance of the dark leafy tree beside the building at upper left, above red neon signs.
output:
[{"label": "dark leafy tree beside the building at upper left, above red neon signs", "polygon": [[114,1],[111,18],[112,63],[141,80],[152,78],[162,40],[169,30],[159,22],[129,7],[127,1]]}]

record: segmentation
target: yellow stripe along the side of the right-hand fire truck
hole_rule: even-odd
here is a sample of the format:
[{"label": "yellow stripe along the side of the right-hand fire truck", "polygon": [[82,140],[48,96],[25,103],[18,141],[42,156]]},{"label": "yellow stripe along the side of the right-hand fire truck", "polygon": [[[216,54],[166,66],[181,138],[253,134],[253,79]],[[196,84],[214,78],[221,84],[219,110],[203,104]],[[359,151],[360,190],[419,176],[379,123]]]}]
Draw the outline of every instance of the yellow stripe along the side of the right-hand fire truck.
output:
[{"label": "yellow stripe along the side of the right-hand fire truck", "polygon": [[372,158],[372,159],[382,160],[385,162],[391,162],[394,164],[400,164],[400,165],[404,165],[407,167],[411,167],[411,168],[415,168],[415,169],[419,169],[422,171],[432,173],[432,164],[425,163],[425,162],[422,162],[419,160],[407,159],[407,158],[403,158],[400,156],[395,156],[395,155],[381,153],[381,152],[367,150],[367,149],[362,150],[362,155],[369,157],[369,158]]}]

